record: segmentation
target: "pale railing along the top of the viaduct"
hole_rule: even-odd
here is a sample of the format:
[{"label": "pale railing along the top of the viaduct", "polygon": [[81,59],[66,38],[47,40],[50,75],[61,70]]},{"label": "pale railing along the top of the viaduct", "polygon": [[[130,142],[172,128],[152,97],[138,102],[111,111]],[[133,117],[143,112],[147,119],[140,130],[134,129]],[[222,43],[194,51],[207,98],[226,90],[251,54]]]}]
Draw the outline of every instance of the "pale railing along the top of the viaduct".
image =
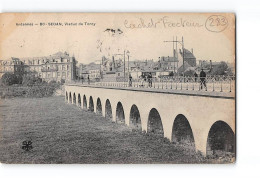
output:
[{"label": "pale railing along the top of the viaduct", "polygon": [[115,88],[154,88],[167,90],[192,90],[206,92],[232,92],[235,91],[235,76],[207,76],[200,77],[167,77],[152,79],[132,79],[131,81],[84,81],[78,80],[74,84],[91,86],[104,86]]}]

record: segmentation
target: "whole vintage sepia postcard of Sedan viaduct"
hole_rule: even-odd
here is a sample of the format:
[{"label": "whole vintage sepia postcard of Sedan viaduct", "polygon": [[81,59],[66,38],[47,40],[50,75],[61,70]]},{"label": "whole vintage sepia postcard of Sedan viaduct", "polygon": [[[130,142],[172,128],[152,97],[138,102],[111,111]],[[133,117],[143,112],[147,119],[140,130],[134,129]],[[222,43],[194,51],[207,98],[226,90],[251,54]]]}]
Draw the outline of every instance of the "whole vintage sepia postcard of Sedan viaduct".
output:
[{"label": "whole vintage sepia postcard of Sedan viaduct", "polygon": [[234,163],[233,13],[0,14],[0,162]]}]

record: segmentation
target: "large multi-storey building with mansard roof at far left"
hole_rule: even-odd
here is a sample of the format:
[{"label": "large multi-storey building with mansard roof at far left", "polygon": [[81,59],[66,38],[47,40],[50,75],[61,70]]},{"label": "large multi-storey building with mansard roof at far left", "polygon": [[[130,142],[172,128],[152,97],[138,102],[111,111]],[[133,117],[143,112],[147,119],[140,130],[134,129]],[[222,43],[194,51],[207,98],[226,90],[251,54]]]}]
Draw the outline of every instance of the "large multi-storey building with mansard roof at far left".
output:
[{"label": "large multi-storey building with mansard roof at far left", "polygon": [[67,52],[45,57],[11,58],[1,62],[1,75],[6,72],[34,74],[44,81],[71,81],[76,78],[76,60]]}]

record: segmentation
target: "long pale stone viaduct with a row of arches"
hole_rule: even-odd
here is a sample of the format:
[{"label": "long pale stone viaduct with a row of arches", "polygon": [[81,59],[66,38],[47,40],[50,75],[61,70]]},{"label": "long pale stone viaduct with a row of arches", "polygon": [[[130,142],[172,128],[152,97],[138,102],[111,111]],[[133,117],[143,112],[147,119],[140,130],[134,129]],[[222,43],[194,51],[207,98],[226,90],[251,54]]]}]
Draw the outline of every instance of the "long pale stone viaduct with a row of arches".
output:
[{"label": "long pale stone viaduct with a row of arches", "polygon": [[[210,147],[210,131],[216,135],[227,129],[231,137],[223,139],[228,142],[224,147],[235,151],[234,97],[67,84],[65,100],[142,131],[159,131],[161,126],[163,137],[170,141],[188,136],[203,155]],[[178,128],[183,136],[175,132]]]}]

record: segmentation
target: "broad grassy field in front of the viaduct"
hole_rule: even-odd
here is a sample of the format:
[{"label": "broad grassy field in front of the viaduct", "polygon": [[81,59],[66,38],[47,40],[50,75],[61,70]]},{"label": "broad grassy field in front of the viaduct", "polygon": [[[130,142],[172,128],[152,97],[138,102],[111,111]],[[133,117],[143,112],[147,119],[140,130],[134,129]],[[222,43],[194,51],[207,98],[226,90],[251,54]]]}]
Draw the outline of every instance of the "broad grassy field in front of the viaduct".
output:
[{"label": "broad grassy field in front of the viaduct", "polygon": [[[133,132],[63,97],[13,98],[0,104],[2,163],[204,163],[195,151]],[[33,149],[23,150],[22,142]]]}]

